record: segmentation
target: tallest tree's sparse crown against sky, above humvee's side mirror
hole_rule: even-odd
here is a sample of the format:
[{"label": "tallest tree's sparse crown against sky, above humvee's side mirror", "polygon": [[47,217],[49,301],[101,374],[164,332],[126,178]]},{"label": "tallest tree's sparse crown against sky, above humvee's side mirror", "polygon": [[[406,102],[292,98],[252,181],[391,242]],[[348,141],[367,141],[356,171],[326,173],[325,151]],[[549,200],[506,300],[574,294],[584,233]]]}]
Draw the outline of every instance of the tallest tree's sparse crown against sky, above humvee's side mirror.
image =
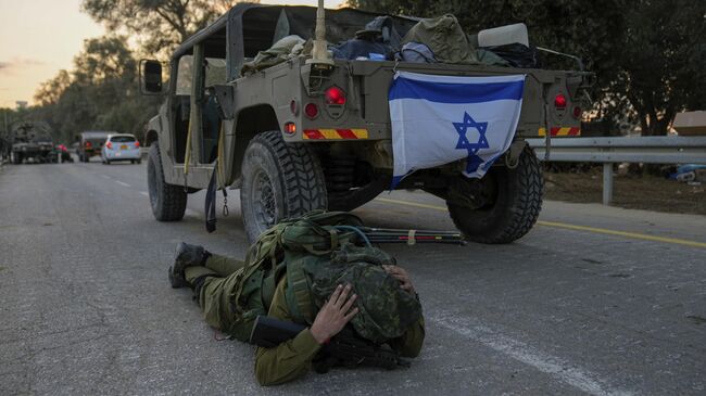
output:
[{"label": "tallest tree's sparse crown against sky, above humvee's side mirror", "polygon": [[136,35],[143,51],[166,55],[237,1],[84,0],[83,10],[110,31]]}]

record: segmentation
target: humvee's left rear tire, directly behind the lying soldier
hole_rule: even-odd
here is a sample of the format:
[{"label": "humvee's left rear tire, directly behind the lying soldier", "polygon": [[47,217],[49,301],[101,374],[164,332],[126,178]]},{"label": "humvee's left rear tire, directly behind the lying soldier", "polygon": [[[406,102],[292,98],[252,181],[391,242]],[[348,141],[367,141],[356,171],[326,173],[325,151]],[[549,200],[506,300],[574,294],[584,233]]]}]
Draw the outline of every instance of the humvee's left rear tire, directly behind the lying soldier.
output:
[{"label": "humvee's left rear tire, directly behind the lying soldier", "polygon": [[326,181],[306,144],[287,144],[277,130],[250,141],[242,161],[240,205],[250,242],[279,220],[326,209]]}]

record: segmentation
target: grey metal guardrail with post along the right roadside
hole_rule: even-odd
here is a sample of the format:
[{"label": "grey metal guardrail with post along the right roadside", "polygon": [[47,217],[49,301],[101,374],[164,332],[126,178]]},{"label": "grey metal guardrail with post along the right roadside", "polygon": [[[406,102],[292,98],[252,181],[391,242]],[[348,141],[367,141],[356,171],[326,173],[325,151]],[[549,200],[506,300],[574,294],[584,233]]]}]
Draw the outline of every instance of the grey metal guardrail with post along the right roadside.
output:
[{"label": "grey metal guardrail with post along the right roadside", "polygon": [[527,139],[540,161],[603,163],[603,204],[613,201],[613,164],[706,164],[706,137]]}]

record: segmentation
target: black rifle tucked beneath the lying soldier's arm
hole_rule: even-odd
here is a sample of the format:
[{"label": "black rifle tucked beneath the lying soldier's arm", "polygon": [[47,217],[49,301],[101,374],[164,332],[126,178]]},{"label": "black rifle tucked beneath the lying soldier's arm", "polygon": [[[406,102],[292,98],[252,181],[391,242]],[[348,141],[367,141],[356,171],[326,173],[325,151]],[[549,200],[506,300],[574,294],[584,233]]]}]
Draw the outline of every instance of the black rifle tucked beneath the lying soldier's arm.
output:
[{"label": "black rifle tucked beneath the lying soldier's arm", "polygon": [[[306,327],[303,324],[260,315],[255,318],[250,333],[250,343],[272,348],[295,337],[304,329]],[[409,367],[409,362],[400,358],[394,350],[361,337],[348,327],[323,345],[320,355],[313,363],[318,373],[325,373],[330,368],[339,366],[370,366],[387,370]]]}]

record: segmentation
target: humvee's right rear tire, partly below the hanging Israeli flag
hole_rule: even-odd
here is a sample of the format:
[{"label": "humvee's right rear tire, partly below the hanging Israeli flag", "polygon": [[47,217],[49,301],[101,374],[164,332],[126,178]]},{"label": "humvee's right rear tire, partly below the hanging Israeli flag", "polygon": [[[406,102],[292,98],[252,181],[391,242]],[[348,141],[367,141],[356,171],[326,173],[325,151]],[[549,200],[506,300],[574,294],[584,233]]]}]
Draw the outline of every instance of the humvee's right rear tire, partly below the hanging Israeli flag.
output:
[{"label": "humvee's right rear tire, partly below the hanging Israeli flag", "polygon": [[515,169],[494,166],[483,178],[492,202],[477,209],[446,203],[458,230],[481,243],[509,243],[525,235],[542,209],[544,178],[534,151],[526,146]]}]

